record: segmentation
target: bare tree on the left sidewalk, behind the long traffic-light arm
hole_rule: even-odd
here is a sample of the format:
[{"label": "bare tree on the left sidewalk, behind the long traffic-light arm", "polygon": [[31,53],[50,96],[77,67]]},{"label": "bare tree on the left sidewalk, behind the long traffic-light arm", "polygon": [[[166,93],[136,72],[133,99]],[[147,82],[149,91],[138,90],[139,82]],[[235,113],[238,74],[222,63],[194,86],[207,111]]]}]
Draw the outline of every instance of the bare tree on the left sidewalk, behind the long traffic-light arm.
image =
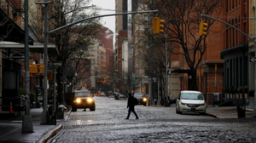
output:
[{"label": "bare tree on the left sidewalk, behind the long traffic-light arm", "polygon": [[[90,0],[55,0],[54,7],[52,9],[53,13],[49,14],[49,30],[55,29],[61,26],[66,26],[68,23],[73,23],[77,20],[82,20],[86,17],[92,17],[96,15],[95,10],[88,10],[88,5]],[[96,37],[99,33],[99,28],[102,25],[99,23],[99,19],[88,20],[77,24],[76,26],[71,26],[64,28],[59,31],[55,31],[49,38],[49,41],[55,43],[56,48],[59,50],[59,55],[52,56],[54,60],[62,61],[63,66],[57,70],[57,87],[59,94],[59,101],[64,101],[61,99],[62,91],[61,81],[65,79],[65,73],[70,59],[74,59],[75,56],[84,56],[84,51],[89,49],[89,45],[94,43]],[[77,63],[81,63],[77,58],[75,60]],[[86,58],[84,58],[86,59]],[[84,62],[88,64],[88,62]],[[76,66],[80,68],[79,66]],[[76,69],[78,70],[78,69]],[[62,79],[61,79],[62,76]],[[63,77],[64,76],[64,77]],[[64,82],[64,81],[62,81]]]}]

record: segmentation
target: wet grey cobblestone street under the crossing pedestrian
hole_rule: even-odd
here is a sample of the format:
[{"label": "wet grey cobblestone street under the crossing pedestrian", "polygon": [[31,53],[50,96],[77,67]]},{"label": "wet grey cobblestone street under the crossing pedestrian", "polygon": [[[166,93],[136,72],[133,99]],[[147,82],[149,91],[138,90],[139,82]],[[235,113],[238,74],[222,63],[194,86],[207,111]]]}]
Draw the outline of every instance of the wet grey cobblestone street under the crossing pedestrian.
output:
[{"label": "wet grey cobblestone street under the crossing pedestrian", "polygon": [[125,120],[126,100],[95,99],[95,112],[72,112],[47,142],[256,142],[254,118],[179,115],[172,105],[136,106],[139,119]]}]

